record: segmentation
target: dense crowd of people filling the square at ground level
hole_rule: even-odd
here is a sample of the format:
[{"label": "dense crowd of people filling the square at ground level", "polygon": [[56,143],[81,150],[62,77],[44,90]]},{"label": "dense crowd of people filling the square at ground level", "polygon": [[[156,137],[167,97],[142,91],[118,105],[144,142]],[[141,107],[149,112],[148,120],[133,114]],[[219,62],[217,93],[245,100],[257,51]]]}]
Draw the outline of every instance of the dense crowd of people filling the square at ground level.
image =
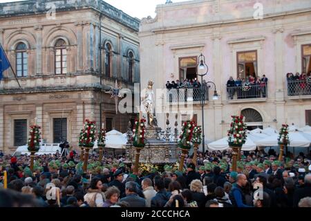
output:
[{"label": "dense crowd of people filling the square at ground level", "polygon": [[73,151],[36,156],[34,171],[29,156],[0,152],[0,206],[311,207],[310,155],[277,161],[273,150],[241,152],[232,171],[231,150],[207,151],[196,162],[187,156],[182,171],[176,163],[142,174],[124,155],[105,154],[100,162],[91,153],[85,173]]}]

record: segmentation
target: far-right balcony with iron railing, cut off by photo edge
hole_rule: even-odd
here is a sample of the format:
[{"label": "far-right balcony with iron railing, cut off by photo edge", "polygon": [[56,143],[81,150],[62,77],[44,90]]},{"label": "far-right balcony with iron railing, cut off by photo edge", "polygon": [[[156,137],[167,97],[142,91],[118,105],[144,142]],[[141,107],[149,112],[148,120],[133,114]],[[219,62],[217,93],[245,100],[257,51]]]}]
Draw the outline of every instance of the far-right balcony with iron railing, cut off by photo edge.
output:
[{"label": "far-right balcony with iron railing, cut off by photo edge", "polygon": [[307,80],[288,80],[288,98],[311,98],[311,82]]}]

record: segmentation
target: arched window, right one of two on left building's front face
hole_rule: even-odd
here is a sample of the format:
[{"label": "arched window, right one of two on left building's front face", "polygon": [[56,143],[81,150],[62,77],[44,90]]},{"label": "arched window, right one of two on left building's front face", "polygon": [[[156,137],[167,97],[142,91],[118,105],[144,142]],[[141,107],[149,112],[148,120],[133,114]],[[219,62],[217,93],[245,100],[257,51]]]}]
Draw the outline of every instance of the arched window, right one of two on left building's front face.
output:
[{"label": "arched window, right one of two on left building's front face", "polygon": [[67,49],[64,39],[58,39],[55,44],[55,74],[67,73]]}]

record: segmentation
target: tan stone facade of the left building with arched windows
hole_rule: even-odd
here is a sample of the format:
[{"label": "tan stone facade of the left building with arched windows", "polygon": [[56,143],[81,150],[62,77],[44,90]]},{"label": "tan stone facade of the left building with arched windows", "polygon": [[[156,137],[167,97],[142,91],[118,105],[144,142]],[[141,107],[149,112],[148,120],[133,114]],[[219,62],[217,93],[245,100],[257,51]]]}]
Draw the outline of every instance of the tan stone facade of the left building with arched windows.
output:
[{"label": "tan stone facade of the left building with arched windows", "polygon": [[[17,45],[26,44],[28,75],[19,77],[21,88],[11,70],[5,71],[0,82],[0,150],[16,148],[15,119],[26,119],[30,125],[36,117],[47,143],[53,143],[53,118],[67,118],[67,139],[76,148],[84,118],[94,119],[100,126],[100,103],[102,122],[111,118],[112,127],[126,132],[133,114],[115,114],[115,100],[104,92],[114,87],[115,80],[131,90],[134,82],[140,82],[139,23],[104,1],[1,3],[0,43],[15,72]],[[55,74],[59,39],[66,44],[67,70]],[[107,43],[111,46],[110,76],[105,69]]]}]

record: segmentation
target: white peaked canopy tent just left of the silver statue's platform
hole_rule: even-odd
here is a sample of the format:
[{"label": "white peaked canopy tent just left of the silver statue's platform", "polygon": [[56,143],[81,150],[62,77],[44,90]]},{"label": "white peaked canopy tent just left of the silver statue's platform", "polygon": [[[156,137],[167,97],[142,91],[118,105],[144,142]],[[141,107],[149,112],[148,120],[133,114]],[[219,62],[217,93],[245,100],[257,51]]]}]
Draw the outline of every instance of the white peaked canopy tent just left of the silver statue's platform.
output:
[{"label": "white peaked canopy tent just left of the silver statue's platform", "polygon": [[[105,148],[124,149],[127,143],[126,134],[122,134],[117,130],[111,130],[106,133],[106,146]],[[94,143],[94,148],[98,148],[97,141]]]}]

